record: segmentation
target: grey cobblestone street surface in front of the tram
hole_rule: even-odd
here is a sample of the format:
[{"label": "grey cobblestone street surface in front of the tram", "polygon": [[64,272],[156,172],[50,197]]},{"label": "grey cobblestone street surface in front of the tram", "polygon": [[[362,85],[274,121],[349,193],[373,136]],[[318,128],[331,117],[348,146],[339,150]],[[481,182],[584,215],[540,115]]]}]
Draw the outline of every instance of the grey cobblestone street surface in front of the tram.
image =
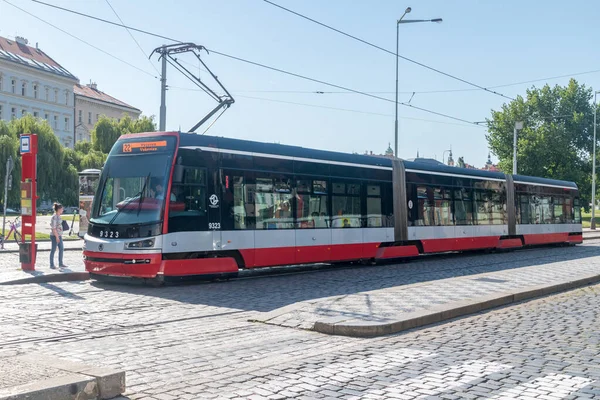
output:
[{"label": "grey cobblestone street surface in front of the tram", "polygon": [[600,265],[599,244],[159,289],[2,287],[0,350],[124,369],[129,399],[600,398],[600,285],[377,339],[249,322],[297,301],[400,284]]}]

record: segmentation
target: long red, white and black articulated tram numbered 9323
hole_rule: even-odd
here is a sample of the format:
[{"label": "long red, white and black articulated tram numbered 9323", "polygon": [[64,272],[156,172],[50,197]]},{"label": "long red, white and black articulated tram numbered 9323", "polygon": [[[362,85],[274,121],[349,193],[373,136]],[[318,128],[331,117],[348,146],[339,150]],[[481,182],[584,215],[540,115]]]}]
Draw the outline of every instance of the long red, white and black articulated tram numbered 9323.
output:
[{"label": "long red, white and black articulated tram numbered 9323", "polygon": [[92,276],[582,242],[572,182],[186,133],[122,136],[95,194]]}]

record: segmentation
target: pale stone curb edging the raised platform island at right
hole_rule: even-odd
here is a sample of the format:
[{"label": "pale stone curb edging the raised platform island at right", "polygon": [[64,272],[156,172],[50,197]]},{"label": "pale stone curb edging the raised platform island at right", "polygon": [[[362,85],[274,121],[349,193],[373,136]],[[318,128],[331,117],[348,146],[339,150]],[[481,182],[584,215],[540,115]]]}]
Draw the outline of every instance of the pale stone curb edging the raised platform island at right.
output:
[{"label": "pale stone curb edging the raised platform island at right", "polygon": [[552,285],[539,285],[522,290],[497,293],[473,300],[445,304],[430,310],[406,313],[395,318],[354,319],[351,317],[331,317],[315,322],[313,330],[319,333],[351,337],[377,337],[419,328],[449,319],[474,314],[512,303],[531,300],[549,294],[564,292],[600,282],[600,274]]}]

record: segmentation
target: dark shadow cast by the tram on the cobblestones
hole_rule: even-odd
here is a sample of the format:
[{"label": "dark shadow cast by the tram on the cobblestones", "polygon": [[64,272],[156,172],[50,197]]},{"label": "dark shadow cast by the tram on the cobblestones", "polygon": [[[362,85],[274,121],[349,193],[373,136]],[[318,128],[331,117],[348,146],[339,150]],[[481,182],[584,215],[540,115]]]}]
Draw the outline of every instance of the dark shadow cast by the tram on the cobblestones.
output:
[{"label": "dark shadow cast by the tram on the cobblestones", "polygon": [[315,271],[153,288],[93,281],[113,292],[153,296],[188,304],[268,312],[293,303],[453,277],[585,260],[600,246],[541,247],[490,254],[446,254],[377,266],[351,264]]}]

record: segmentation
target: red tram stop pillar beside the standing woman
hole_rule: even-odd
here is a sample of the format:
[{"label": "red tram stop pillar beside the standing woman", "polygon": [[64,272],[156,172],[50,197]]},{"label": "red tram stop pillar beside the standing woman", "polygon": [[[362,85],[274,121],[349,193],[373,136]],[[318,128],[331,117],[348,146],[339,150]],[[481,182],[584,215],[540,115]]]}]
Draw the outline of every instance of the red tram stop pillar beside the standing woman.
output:
[{"label": "red tram stop pillar beside the standing woman", "polygon": [[24,271],[35,270],[35,219],[37,203],[37,135],[21,135],[21,241],[31,236],[29,262],[21,262]]}]

